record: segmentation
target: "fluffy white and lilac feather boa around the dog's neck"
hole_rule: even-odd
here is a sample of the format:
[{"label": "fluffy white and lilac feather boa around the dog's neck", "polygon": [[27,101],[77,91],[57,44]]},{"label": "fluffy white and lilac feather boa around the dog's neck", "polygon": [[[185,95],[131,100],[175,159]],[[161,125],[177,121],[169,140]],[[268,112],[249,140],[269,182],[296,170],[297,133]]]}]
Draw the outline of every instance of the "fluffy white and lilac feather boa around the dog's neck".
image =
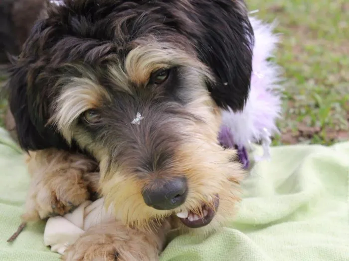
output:
[{"label": "fluffy white and lilac feather boa around the dog's neck", "polygon": [[240,112],[223,111],[219,142],[226,148],[235,148],[243,167],[249,168],[247,152],[253,143],[261,143],[264,154],[255,160],[270,157],[272,135],[278,133],[276,120],[281,113],[280,67],[269,58],[273,56],[278,37],[273,33],[274,26],[250,17],[255,33],[253,48],[253,73],[251,91],[244,109]]}]

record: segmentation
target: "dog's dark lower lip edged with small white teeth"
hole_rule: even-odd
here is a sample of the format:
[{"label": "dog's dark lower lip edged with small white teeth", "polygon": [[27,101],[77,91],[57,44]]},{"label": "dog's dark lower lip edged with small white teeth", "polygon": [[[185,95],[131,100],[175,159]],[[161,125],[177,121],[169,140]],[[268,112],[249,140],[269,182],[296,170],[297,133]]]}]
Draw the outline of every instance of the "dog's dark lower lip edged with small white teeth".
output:
[{"label": "dog's dark lower lip edged with small white teeth", "polygon": [[[187,218],[179,218],[179,219],[185,226],[187,226],[189,228],[204,227],[204,226],[208,225],[212,221],[212,219],[214,218],[214,216],[215,216],[215,214],[216,214],[216,212],[218,210],[218,206],[219,206],[219,197],[218,197],[218,195],[214,196],[213,204],[214,204],[214,208],[215,209],[212,209],[212,208],[208,207],[207,205],[203,206],[202,212],[204,212],[203,213],[204,217],[199,217],[198,218],[198,216],[196,214],[194,214],[193,212],[189,211]],[[206,212],[207,212],[207,214],[206,214]]]}]

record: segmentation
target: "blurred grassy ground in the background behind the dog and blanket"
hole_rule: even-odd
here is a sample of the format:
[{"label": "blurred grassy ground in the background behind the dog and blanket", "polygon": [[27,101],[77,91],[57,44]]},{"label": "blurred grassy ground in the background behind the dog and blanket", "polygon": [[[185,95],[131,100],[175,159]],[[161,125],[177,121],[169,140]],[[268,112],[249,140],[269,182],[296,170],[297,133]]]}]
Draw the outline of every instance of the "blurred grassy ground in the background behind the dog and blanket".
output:
[{"label": "blurred grassy ground in the background behind the dog and blanket", "polygon": [[[23,11],[26,16],[35,13],[35,8],[31,10],[27,4],[38,1],[42,2],[0,0],[0,41],[9,39],[4,32],[8,29],[6,13],[20,20]],[[275,31],[281,37],[274,59],[283,67],[286,79],[284,112],[278,122],[281,134],[273,145],[331,145],[349,140],[349,0],[246,1],[251,11],[259,10],[253,16],[277,23]],[[13,2],[21,2],[15,15]],[[13,23],[20,31],[23,22]],[[4,47],[0,44],[0,48]],[[1,53],[0,49],[0,58]],[[4,84],[4,59],[1,63],[0,84]],[[6,101],[0,100],[1,126],[5,107]]]}]

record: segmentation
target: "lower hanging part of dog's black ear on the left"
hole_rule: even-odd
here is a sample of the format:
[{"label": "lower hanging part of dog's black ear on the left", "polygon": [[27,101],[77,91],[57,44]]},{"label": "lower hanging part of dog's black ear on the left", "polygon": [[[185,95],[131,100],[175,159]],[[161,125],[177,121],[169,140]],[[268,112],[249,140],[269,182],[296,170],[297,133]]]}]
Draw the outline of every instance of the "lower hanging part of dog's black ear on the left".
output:
[{"label": "lower hanging part of dog's black ear on the left", "polygon": [[34,88],[28,90],[29,67],[30,63],[15,62],[6,86],[19,145],[25,151],[65,148],[61,135],[46,126],[45,99],[35,93]]}]

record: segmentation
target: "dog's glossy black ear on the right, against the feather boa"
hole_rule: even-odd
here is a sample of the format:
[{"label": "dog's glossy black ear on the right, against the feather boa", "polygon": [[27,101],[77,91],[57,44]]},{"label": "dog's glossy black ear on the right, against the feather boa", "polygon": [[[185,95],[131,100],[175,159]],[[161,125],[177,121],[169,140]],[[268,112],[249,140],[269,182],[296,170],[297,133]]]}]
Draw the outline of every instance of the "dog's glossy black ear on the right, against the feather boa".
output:
[{"label": "dog's glossy black ear on the right, against the feather boa", "polygon": [[185,30],[214,74],[208,90],[218,106],[241,110],[250,90],[254,45],[247,8],[243,0],[196,2],[189,16],[193,26]]}]

